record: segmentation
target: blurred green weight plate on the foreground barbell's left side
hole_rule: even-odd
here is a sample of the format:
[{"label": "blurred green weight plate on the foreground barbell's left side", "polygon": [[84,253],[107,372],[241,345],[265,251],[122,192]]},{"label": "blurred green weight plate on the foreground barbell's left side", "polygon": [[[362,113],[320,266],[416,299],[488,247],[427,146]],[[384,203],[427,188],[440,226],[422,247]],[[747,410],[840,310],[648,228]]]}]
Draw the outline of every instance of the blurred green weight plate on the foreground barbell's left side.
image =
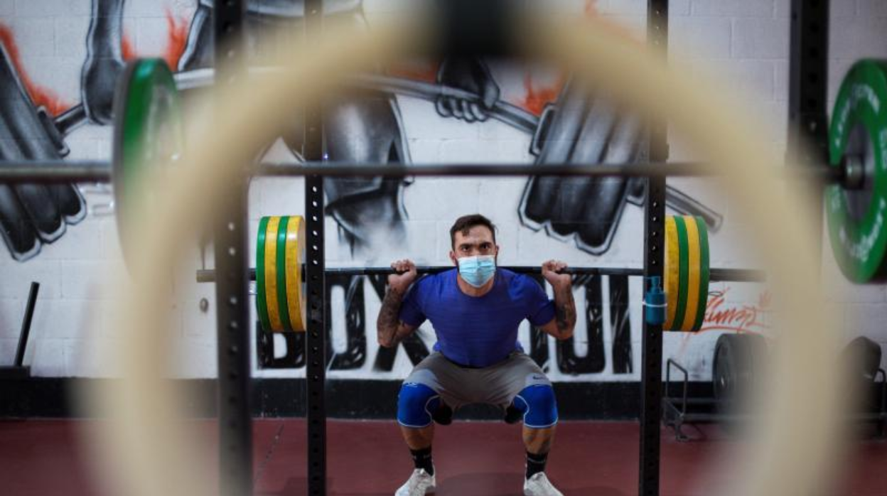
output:
[{"label": "blurred green weight plate on the foreground barbell's left side", "polygon": [[117,232],[128,263],[129,225],[150,215],[153,195],[145,172],[182,153],[184,136],[176,82],[163,59],[130,61],[114,91],[114,205]]}]

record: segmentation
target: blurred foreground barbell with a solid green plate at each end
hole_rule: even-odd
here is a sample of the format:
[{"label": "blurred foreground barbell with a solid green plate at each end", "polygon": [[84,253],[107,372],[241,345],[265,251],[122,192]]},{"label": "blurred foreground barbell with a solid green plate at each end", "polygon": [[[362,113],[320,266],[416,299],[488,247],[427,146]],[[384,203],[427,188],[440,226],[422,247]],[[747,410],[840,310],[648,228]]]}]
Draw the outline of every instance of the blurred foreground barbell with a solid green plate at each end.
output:
[{"label": "blurred foreground barbell with a solid green plate at each end", "polygon": [[[146,191],[141,180],[146,164],[182,162],[184,134],[180,113],[177,78],[162,59],[130,61],[120,78],[114,94],[114,145],[110,169],[102,162],[82,164],[65,161],[6,161],[0,168],[0,183],[60,182],[82,180],[111,180],[114,183],[118,232],[124,257],[127,248],[127,218],[139,209],[149,209],[153,194]],[[195,79],[195,78],[192,78]],[[190,81],[186,87],[205,83],[206,74]],[[431,98],[440,91],[428,83],[404,85],[396,78],[365,76],[353,78],[351,83],[363,84],[378,91],[404,91],[421,98]],[[449,94],[449,93],[447,93]],[[467,97],[459,93],[460,97]],[[828,166],[811,167],[805,171],[791,171],[791,175],[812,175],[828,184],[824,198],[828,219],[829,240],[836,262],[847,279],[857,283],[881,281],[887,278],[887,75],[881,61],[864,59],[857,62],[844,77],[838,92],[833,119],[829,129]],[[498,105],[494,115],[511,125],[529,130],[538,122],[519,112],[516,107]],[[84,118],[82,106],[76,106],[57,119],[60,132],[73,129]],[[406,175],[436,175],[452,173],[465,175],[500,175],[508,169],[514,175],[538,174],[530,166],[507,165],[448,165],[448,166],[392,166],[374,167],[325,164],[293,167],[258,164],[255,174],[267,175],[378,175],[387,177]],[[683,169],[691,170],[695,167]],[[653,174],[679,175],[681,164],[606,164],[546,165],[546,174],[563,176]],[[674,193],[672,192],[672,196]],[[684,209],[696,209],[692,205]],[[708,218],[708,217],[706,217]],[[711,222],[709,218],[709,222]]]}]

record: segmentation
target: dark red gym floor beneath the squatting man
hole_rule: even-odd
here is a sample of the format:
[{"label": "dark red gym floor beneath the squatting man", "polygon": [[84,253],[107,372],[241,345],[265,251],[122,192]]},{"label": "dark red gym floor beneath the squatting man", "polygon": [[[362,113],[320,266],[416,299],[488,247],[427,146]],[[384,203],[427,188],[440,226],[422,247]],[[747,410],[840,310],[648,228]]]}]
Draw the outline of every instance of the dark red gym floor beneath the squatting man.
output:
[{"label": "dark red gym floor beneath the squatting man", "polygon": [[[85,496],[101,494],[86,455],[88,428],[101,421],[0,421],[0,494],[3,496]],[[195,421],[215,437],[214,421]],[[305,423],[255,421],[255,494],[306,493]],[[693,433],[693,429],[687,429]],[[697,432],[701,434],[702,432]],[[661,493],[718,494],[729,484],[726,458],[735,441],[716,426],[707,440],[679,443],[663,429]],[[391,495],[412,469],[393,421],[330,421],[328,494]],[[887,442],[860,441],[852,467],[836,494],[887,494]],[[434,446],[439,496],[522,494],[520,428],[502,422],[454,422],[437,429]],[[623,496],[637,493],[638,424],[564,421],[548,461],[548,475],[567,495]],[[208,465],[213,465],[209,463]],[[215,468],[213,468],[215,469]],[[718,476],[712,474],[717,471]],[[215,480],[215,475],[210,474]]]}]

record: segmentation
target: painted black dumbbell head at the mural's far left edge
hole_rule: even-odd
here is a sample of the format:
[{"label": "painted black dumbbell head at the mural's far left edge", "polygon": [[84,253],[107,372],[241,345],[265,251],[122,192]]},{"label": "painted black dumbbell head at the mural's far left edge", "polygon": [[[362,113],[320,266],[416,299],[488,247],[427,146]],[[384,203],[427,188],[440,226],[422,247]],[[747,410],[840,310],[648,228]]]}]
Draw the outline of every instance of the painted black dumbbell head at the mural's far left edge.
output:
[{"label": "painted black dumbbell head at the mural's far left edge", "polygon": [[[69,121],[53,120],[27,94],[6,48],[0,45],[0,160],[53,161],[67,155]],[[43,243],[58,240],[67,224],[86,216],[74,185],[0,185],[0,233],[12,258],[24,261]]]}]

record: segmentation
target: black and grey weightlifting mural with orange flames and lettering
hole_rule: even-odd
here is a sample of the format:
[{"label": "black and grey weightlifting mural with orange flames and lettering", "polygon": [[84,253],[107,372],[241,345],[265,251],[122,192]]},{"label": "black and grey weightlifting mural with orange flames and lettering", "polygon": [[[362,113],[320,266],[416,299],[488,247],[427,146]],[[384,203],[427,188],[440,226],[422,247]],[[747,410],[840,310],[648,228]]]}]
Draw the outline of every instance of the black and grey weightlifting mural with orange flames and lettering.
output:
[{"label": "black and grey weightlifting mural with orange flames and lettering", "polygon": [[[588,5],[593,6],[593,2]],[[260,65],[268,54],[255,43],[255,34],[267,26],[301,29],[301,0],[251,0],[247,3],[247,34],[251,56]],[[81,125],[107,126],[112,121],[117,77],[126,60],[139,56],[133,34],[126,28],[125,0],[92,0],[87,56],[82,61],[80,102],[63,101],[52,88],[32,82],[20,63],[16,33],[0,26],[0,159],[61,159],[67,155],[65,138]],[[160,55],[184,75],[213,66],[212,2],[200,0],[187,14],[166,9],[166,46]],[[595,15],[593,9],[587,11]],[[337,22],[365,28],[367,17],[359,0],[327,0],[326,15]],[[152,54],[156,55],[156,54]],[[591,94],[569,74],[556,74],[545,83],[528,69],[516,84],[521,98],[506,99],[488,61],[446,59],[439,63],[405,63],[359,75],[326,109],[326,154],[330,161],[410,163],[409,129],[398,107],[398,95],[428,100],[441,120],[477,125],[495,119],[531,137],[529,160],[541,167],[552,163],[628,163],[646,157],[646,143],[637,115],[615,106],[607,95]],[[468,95],[470,98],[467,98]],[[185,94],[187,98],[187,94]],[[287,149],[302,156],[301,118],[294,115],[290,129],[281,132]],[[409,181],[382,178],[331,178],[326,183],[327,215],[334,219],[349,243],[355,261],[366,253],[385,253],[385,247],[404,243],[404,188]],[[643,183],[637,179],[531,177],[522,195],[514,198],[514,218],[520,229],[544,231],[554,240],[574,245],[591,256],[605,256],[620,225],[626,205],[642,205]],[[716,232],[722,217],[691,196],[669,190],[669,206],[685,214],[702,215]],[[27,264],[46,243],[59,240],[69,226],[87,215],[84,196],[75,185],[0,185],[0,225],[12,259]],[[449,220],[449,219],[448,219]],[[75,227],[72,227],[72,229]],[[632,318],[628,278],[577,278],[577,300],[585,302],[582,342],[570,339],[551,348],[546,335],[530,329],[528,353],[542,366],[556,366],[563,375],[637,372],[639,350],[632,349]],[[637,281],[635,281],[637,282]],[[633,284],[633,283],[632,283]],[[381,300],[383,279],[338,278],[327,292],[341,291],[345,316],[345,345],[328,352],[332,370],[367,370],[367,340],[374,341],[374,315],[368,308]],[[710,297],[706,329],[757,331],[758,307],[734,308],[724,289]],[[632,293],[632,297],[634,293]],[[606,316],[606,319],[605,319]],[[634,319],[640,327],[640,319]],[[369,322],[369,324],[368,324]],[[605,332],[605,329],[607,332]],[[412,363],[428,355],[431,331],[406,340],[402,346]],[[260,368],[304,366],[302,335],[275,339],[256,333]],[[634,340],[638,339],[635,336]],[[577,346],[578,344],[578,346]],[[585,351],[578,351],[578,350]],[[553,350],[553,351],[552,351]],[[373,372],[389,372],[398,350],[378,350]]]}]

